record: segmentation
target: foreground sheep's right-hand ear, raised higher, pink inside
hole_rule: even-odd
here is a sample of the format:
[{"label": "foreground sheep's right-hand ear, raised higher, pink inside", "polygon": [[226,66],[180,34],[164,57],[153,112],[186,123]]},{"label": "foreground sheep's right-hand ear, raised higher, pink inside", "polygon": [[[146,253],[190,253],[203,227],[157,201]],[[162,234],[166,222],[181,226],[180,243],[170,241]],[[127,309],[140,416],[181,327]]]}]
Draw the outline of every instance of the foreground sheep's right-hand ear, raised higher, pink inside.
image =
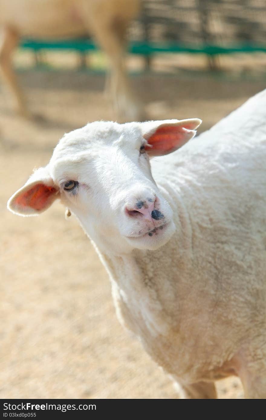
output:
[{"label": "foreground sheep's right-hand ear, raised higher, pink inside", "polygon": [[195,129],[201,123],[199,118],[142,123],[143,137],[147,140],[147,153],[149,156],[161,156],[174,152],[195,136]]}]

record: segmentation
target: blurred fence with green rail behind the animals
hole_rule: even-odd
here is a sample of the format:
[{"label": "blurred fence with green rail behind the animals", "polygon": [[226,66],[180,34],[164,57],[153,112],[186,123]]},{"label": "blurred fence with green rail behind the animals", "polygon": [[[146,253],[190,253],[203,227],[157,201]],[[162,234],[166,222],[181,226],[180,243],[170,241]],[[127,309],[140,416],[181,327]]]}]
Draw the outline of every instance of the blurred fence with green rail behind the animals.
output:
[{"label": "blurred fence with green rail behind the animals", "polygon": [[[24,39],[34,51],[97,49],[91,39]],[[266,0],[143,0],[140,17],[129,28],[129,51],[152,56],[161,52],[266,52]]]}]

